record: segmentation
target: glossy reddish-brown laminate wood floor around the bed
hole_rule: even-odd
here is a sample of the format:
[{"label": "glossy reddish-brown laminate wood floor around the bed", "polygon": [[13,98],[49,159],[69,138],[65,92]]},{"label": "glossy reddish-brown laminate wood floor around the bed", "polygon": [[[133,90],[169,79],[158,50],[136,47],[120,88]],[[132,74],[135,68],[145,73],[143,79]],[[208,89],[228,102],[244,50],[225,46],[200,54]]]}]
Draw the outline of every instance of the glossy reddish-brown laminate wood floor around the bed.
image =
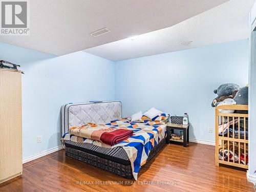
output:
[{"label": "glossy reddish-brown laminate wood floor around the bed", "polygon": [[254,191],[246,170],[215,165],[214,146],[165,147],[140,171],[138,181],[65,156],[61,150],[23,165],[23,175],[0,191]]}]

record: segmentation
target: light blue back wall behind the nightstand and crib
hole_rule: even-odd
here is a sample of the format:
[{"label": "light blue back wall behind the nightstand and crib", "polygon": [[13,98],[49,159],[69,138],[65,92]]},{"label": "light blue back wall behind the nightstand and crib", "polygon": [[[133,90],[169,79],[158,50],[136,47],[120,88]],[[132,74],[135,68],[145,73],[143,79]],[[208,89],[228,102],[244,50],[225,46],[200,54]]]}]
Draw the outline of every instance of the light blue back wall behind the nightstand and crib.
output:
[{"label": "light blue back wall behind the nightstand and crib", "polygon": [[214,89],[248,83],[248,40],[124,61],[115,65],[115,98],[123,116],[155,106],[172,115],[187,112],[190,138],[215,141]]}]

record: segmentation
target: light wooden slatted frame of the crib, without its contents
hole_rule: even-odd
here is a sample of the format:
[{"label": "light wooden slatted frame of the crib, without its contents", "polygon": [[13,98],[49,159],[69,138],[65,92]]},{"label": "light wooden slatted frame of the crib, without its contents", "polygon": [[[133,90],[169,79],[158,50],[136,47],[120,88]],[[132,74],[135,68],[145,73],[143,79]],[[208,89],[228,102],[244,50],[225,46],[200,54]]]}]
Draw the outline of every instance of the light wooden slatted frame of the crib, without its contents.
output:
[{"label": "light wooden slatted frame of the crib, without its contents", "polygon": [[[239,113],[220,113],[219,110],[236,110]],[[241,113],[245,112],[245,113]],[[222,125],[224,127],[224,123],[228,123],[230,120],[238,119],[238,138],[234,137],[234,124],[232,127],[232,132],[229,132],[229,128],[227,129],[227,134],[224,135],[222,130],[222,135],[219,135],[219,125]],[[243,124],[242,124],[243,123]],[[248,169],[248,162],[246,162],[246,153],[248,153],[248,150],[246,150],[246,147],[248,148],[248,134],[246,135],[246,130],[248,131],[248,105],[239,105],[239,104],[233,104],[233,105],[221,105],[217,106],[215,109],[215,124],[216,124],[216,141],[215,141],[215,162],[216,165],[219,166],[219,164],[226,164],[241,168]],[[241,126],[244,129],[244,134],[241,135]],[[230,126],[229,126],[230,127]],[[222,128],[223,129],[223,128]],[[248,133],[248,132],[247,132]],[[232,137],[230,137],[230,134]],[[243,136],[243,137],[241,137]],[[247,139],[246,139],[247,137]],[[235,158],[232,160],[229,159],[230,155],[230,145],[235,146],[237,144],[238,147],[232,147],[232,153],[234,154],[235,148],[238,150],[238,161],[235,161]],[[227,145],[228,153],[227,153],[227,160],[225,160],[224,157],[224,145]],[[222,150],[222,159],[219,158],[220,150]],[[241,152],[244,151],[244,163],[240,160],[241,158]]]}]

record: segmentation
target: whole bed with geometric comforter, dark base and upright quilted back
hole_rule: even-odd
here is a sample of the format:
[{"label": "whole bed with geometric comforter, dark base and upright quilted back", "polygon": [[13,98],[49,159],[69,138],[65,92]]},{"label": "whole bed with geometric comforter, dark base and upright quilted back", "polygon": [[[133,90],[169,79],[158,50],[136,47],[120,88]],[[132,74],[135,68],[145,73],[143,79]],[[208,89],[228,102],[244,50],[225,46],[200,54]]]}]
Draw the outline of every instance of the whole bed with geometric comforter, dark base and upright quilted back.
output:
[{"label": "whole bed with geometric comforter, dark base and upright quilted back", "polygon": [[[67,156],[90,163],[121,177],[137,180],[140,167],[150,161],[165,145],[166,125],[131,122],[126,118],[122,119],[121,111],[120,101],[63,105],[61,107],[61,141]],[[126,129],[134,130],[134,136],[114,146],[109,146],[99,141],[69,134],[70,127],[81,126],[88,122],[111,127],[125,126]],[[153,132],[157,135],[153,135]],[[148,142],[144,141],[146,144],[138,147],[137,140],[141,139],[141,135],[144,135],[143,140],[145,135],[151,136],[148,138]],[[140,153],[142,155],[138,162],[137,156]],[[135,154],[136,157],[134,157]],[[140,165],[138,166],[138,164]]]}]

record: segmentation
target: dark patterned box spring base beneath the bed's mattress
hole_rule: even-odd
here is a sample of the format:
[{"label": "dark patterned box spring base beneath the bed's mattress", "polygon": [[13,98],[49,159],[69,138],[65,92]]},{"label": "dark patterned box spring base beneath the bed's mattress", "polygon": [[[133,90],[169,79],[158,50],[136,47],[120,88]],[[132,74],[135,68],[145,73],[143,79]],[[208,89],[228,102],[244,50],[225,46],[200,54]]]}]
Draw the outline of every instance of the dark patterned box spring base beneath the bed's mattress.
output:
[{"label": "dark patterned box spring base beneath the bed's mattress", "polygon": [[[150,152],[150,155],[147,158],[147,161],[150,161],[160,150],[161,148],[166,144],[166,137],[162,139]],[[124,165],[117,163],[115,161],[111,161],[108,159],[104,159],[86,152],[82,152],[79,150],[76,150],[75,148],[66,146],[66,155],[75,159],[78,159],[80,161],[92,164],[94,166],[97,166],[99,168],[108,170],[111,173],[114,173],[116,175],[119,175],[121,177],[124,177],[126,179],[132,179],[133,173],[132,173],[132,167],[130,165]]]}]

